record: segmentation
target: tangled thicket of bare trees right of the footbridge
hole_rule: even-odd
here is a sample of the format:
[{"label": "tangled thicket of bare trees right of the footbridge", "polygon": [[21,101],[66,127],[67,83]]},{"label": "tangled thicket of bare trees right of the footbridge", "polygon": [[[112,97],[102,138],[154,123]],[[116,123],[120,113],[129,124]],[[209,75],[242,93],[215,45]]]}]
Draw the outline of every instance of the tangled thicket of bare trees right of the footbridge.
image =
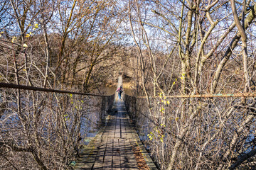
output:
[{"label": "tangled thicket of bare trees right of the footbridge", "polygon": [[[142,77],[149,108],[145,111],[144,99],[138,98],[137,116],[146,117],[151,123],[148,128],[151,152],[159,168],[255,167],[250,164],[255,161],[254,98],[168,98],[170,94],[251,91],[250,86],[255,86],[252,74],[255,50],[252,46],[247,48],[247,44],[255,42],[252,31],[255,3],[229,4],[218,0],[129,3],[131,30],[142,58],[142,72],[150,72],[148,77]],[[160,55],[156,46],[161,46],[162,52],[174,51]],[[171,77],[168,89],[162,88],[164,80],[158,75]],[[157,93],[159,99],[147,95]]]}]

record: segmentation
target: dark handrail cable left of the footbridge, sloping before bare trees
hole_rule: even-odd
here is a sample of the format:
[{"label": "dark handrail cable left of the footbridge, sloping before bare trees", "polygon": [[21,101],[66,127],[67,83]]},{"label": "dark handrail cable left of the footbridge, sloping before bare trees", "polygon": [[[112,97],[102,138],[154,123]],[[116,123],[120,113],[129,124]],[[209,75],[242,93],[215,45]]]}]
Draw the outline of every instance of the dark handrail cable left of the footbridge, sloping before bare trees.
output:
[{"label": "dark handrail cable left of the footbridge, sloping before bare trees", "polygon": [[41,87],[35,87],[35,86],[24,86],[24,85],[9,84],[9,83],[0,83],[0,88],[55,92],[55,93],[60,93],[60,94],[78,94],[78,95],[85,95],[85,96],[107,97],[105,95],[84,94],[84,93],[79,93],[79,92],[75,92],[75,91],[63,91],[63,90],[58,90],[58,89],[47,89],[47,88],[41,88]]}]

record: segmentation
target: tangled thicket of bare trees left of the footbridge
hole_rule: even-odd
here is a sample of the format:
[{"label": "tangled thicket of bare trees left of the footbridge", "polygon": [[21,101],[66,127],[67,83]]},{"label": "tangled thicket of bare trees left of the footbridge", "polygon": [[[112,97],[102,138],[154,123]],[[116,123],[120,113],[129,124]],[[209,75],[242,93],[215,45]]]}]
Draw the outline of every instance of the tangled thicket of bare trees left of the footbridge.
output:
[{"label": "tangled thicket of bare trees left of the footbridge", "polygon": [[[125,36],[123,8],[117,1],[1,2],[0,81],[83,92],[104,86]],[[0,94],[1,169],[71,169],[88,130],[111,106],[101,97]]]}]

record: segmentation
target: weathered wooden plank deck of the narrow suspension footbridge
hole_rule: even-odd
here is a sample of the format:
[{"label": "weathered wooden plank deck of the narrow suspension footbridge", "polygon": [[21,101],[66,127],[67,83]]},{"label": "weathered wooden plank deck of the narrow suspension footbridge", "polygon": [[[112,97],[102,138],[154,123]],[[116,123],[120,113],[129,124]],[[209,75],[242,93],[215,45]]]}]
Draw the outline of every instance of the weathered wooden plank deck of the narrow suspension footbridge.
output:
[{"label": "weathered wooden plank deck of the narrow suspension footbridge", "polygon": [[[138,167],[134,148],[139,148],[147,168]],[[82,149],[74,169],[157,169],[131,124],[124,101],[114,104],[107,126]]]}]

